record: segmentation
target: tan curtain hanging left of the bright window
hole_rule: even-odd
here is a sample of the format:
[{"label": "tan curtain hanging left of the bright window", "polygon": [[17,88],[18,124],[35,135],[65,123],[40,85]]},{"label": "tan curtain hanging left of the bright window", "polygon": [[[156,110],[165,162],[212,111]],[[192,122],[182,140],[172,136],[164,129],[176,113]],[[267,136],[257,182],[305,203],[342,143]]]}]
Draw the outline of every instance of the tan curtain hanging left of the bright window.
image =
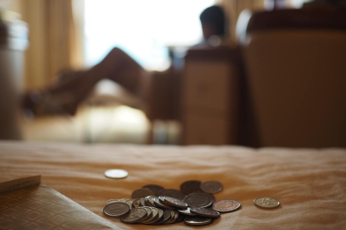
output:
[{"label": "tan curtain hanging left of the bright window", "polygon": [[29,24],[26,89],[42,88],[58,73],[81,65],[72,0],[16,0],[16,7]]}]

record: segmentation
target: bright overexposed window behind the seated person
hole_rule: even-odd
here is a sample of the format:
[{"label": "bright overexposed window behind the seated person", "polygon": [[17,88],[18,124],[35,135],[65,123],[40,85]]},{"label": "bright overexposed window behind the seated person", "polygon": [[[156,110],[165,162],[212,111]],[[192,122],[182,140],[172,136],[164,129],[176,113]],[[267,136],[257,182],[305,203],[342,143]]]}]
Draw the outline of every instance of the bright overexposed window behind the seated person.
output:
[{"label": "bright overexposed window behind the seated person", "polygon": [[119,47],[147,70],[170,66],[167,46],[202,39],[199,15],[215,0],[85,0],[85,61]]}]

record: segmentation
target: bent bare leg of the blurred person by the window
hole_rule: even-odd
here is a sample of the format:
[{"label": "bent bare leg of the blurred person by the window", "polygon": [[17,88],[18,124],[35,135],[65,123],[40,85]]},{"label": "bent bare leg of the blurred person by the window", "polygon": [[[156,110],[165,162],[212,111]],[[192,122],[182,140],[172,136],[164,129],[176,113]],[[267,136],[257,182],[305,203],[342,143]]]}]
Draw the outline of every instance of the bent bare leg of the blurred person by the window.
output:
[{"label": "bent bare leg of the blurred person by the window", "polygon": [[46,101],[48,99],[52,107],[74,114],[78,104],[88,97],[101,79],[111,79],[141,96],[143,71],[143,68],[124,51],[114,48],[91,69],[65,73],[67,76],[64,80],[42,91],[42,98]]}]

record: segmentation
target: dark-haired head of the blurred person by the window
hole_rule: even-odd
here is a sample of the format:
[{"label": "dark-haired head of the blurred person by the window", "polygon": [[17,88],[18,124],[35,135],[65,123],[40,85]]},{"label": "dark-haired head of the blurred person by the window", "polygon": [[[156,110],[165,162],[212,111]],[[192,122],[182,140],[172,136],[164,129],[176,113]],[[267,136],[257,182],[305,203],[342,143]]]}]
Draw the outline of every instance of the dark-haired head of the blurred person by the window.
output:
[{"label": "dark-haired head of the blurred person by the window", "polygon": [[208,39],[212,35],[225,35],[225,14],[218,6],[211,6],[203,10],[200,15],[203,37]]}]

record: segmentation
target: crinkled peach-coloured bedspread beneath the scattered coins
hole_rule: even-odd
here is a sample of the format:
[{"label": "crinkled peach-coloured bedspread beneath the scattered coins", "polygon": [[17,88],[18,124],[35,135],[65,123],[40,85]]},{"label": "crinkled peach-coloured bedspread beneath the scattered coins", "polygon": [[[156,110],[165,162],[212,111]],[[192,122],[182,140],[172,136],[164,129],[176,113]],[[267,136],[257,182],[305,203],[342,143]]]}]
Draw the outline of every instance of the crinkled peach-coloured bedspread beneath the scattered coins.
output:
[{"label": "crinkled peach-coloured bedspread beneath the scattered coins", "polygon": [[[104,177],[110,168],[129,176]],[[28,174],[42,174],[42,183],[123,229],[346,229],[345,149],[0,142],[0,180]],[[189,179],[221,181],[215,197],[242,207],[205,227],[130,225],[102,213],[108,199],[130,198],[145,184],[178,189]],[[260,196],[281,206],[257,208]]]}]

